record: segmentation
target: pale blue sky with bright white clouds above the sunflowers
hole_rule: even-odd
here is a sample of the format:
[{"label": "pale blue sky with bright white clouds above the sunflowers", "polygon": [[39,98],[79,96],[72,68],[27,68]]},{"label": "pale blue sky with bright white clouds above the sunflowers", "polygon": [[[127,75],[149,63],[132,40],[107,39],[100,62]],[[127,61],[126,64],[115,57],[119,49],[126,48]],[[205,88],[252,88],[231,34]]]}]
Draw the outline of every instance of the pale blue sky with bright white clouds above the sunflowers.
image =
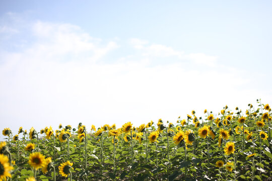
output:
[{"label": "pale blue sky with bright white clouds above the sunflowers", "polygon": [[271,1],[1,1],[0,127],[272,104],[271,22]]}]

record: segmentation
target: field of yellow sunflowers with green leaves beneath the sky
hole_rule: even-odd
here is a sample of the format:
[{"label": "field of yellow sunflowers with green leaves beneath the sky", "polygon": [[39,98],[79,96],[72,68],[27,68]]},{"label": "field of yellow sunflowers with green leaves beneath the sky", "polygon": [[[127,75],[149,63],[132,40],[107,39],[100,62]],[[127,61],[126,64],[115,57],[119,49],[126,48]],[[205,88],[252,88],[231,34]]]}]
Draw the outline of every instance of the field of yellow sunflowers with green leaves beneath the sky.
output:
[{"label": "field of yellow sunflowers with green leaves beneath the sky", "polygon": [[0,180],[272,180],[268,104],[204,115],[138,127],[4,128]]}]

